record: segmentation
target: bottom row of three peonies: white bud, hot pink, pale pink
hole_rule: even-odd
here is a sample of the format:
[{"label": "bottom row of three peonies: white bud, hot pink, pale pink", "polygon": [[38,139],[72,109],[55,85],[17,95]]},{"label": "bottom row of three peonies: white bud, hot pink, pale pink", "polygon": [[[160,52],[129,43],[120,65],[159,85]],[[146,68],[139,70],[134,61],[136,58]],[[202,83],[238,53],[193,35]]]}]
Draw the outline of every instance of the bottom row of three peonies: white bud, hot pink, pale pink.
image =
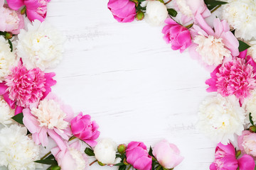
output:
[{"label": "bottom row of three peonies: white bud, hot pink, pale pink", "polygon": [[[117,152],[119,154],[116,154]],[[98,142],[94,154],[100,165],[111,166],[116,164],[118,158],[122,158],[122,166],[129,165],[138,170],[155,169],[154,162],[158,162],[159,169],[174,169],[183,161],[178,147],[166,140],[157,143],[153,150],[148,152],[143,142],[129,142],[128,145],[117,147],[114,141],[104,139]]]}]

